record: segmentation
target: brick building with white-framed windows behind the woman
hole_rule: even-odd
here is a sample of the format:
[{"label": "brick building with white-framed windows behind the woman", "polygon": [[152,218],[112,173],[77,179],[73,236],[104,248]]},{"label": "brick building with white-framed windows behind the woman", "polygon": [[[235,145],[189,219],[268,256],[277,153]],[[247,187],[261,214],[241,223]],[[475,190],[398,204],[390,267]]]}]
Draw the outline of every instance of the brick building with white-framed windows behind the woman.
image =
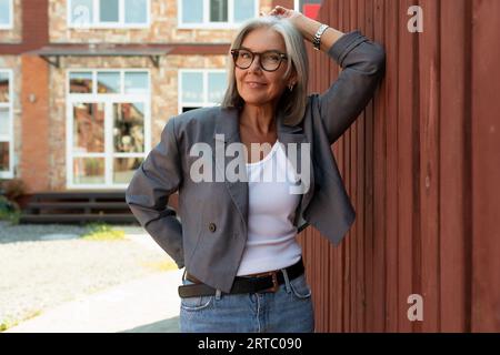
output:
[{"label": "brick building with white-framed windows behind the woman", "polygon": [[0,179],[123,190],[170,116],[219,102],[239,23],[273,4],[0,0]]}]

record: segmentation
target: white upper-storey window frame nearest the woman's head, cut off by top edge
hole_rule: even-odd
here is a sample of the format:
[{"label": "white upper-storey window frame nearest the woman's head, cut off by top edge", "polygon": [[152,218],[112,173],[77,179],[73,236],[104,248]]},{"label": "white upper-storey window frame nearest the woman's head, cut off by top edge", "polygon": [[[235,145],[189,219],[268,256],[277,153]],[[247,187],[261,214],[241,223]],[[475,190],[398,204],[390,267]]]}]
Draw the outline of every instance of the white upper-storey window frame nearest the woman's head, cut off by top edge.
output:
[{"label": "white upper-storey window frame nearest the woman's head, cut off by top edge", "polygon": [[[178,29],[181,30],[194,30],[194,29],[204,29],[204,30],[236,30],[241,24],[240,22],[234,22],[234,1],[238,0],[228,0],[228,21],[227,22],[210,22],[210,0],[203,1],[203,21],[198,23],[184,23],[182,22],[182,0],[177,1],[177,18],[178,18]],[[254,9],[253,13],[256,17],[259,14],[260,9],[260,0],[254,0]]]}]

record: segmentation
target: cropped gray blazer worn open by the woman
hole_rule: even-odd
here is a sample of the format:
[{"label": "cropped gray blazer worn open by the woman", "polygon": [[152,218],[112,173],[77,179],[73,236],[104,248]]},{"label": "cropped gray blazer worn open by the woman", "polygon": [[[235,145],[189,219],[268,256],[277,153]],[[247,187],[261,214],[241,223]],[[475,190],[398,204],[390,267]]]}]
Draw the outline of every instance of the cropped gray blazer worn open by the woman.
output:
[{"label": "cropped gray blazer worn open by the woman", "polygon": [[[310,143],[310,189],[296,211],[300,232],[313,225],[334,245],[354,221],[354,210],[331,153],[331,144],[351,125],[371,100],[383,75],[383,48],[352,31],[340,38],[328,54],[343,69],[324,93],[312,94],[303,121],[287,125],[277,116],[278,140]],[[319,69],[321,70],[321,69]],[[127,189],[127,203],[154,241],[190,274],[229,292],[247,243],[248,183],[198,182],[189,175],[197,159],[191,146],[206,142],[216,154],[216,140],[240,142],[238,111],[206,108],[171,118],[161,142],[149,153]],[[221,142],[218,143],[220,146]],[[300,162],[300,150],[298,151]],[[226,158],[226,165],[232,158]],[[214,161],[214,165],[218,162]],[[219,160],[218,160],[219,161]],[[217,169],[223,171],[223,166]],[[300,165],[299,165],[300,166]],[[169,196],[179,192],[179,217]]]}]

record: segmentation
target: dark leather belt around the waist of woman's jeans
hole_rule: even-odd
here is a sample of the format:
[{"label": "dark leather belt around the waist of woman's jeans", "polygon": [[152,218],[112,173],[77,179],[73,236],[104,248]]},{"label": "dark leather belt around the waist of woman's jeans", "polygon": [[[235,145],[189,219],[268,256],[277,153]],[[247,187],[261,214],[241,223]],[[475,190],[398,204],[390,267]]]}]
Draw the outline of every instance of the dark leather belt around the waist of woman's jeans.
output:
[{"label": "dark leather belt around the waist of woman's jeans", "polygon": [[[302,258],[296,264],[284,268],[289,280],[293,280],[303,274],[304,267]],[[217,293],[217,290],[201,283],[199,280],[186,273],[186,280],[193,282],[194,284],[179,286],[179,296],[199,297],[211,296]],[[241,293],[261,293],[261,292],[277,292],[279,286],[284,283],[284,276],[281,270],[274,270],[266,273],[237,276],[232,284],[229,294]]]}]

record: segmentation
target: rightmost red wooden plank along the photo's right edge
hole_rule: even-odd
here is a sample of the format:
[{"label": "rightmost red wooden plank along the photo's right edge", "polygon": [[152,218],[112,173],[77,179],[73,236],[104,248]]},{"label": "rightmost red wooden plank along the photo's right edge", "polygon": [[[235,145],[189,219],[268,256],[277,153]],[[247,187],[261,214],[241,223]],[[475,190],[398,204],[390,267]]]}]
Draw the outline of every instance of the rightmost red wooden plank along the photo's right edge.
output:
[{"label": "rightmost red wooden plank along the photo's right edge", "polygon": [[471,325],[500,332],[500,1],[476,0],[472,11]]}]

